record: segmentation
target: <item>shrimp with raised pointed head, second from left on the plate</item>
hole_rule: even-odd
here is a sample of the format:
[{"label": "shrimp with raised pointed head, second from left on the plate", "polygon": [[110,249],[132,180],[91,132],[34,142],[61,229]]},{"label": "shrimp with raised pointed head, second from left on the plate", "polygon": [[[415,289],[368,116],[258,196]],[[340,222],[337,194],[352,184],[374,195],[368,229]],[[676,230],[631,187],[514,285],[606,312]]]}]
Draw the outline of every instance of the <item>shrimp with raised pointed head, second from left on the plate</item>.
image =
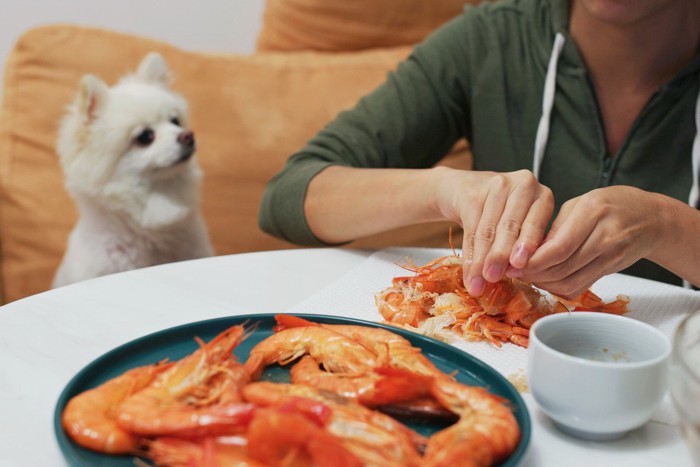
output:
[{"label": "shrimp with raised pointed head, second from left on the plate", "polygon": [[117,409],[119,425],[142,436],[198,436],[240,431],[254,407],[242,402],[248,373],[233,356],[246,337],[243,326],[226,329],[176,362]]}]

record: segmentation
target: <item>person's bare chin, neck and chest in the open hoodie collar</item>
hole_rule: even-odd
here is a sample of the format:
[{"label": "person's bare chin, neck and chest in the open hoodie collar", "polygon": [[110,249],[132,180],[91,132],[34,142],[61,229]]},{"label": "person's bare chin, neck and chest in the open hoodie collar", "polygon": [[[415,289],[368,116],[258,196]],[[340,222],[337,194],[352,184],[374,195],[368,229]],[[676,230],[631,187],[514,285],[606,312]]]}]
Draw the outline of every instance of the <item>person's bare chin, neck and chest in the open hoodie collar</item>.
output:
[{"label": "person's bare chin, neck and chest in the open hoodie collar", "polygon": [[571,0],[570,32],[615,155],[654,92],[698,53],[697,0]]}]

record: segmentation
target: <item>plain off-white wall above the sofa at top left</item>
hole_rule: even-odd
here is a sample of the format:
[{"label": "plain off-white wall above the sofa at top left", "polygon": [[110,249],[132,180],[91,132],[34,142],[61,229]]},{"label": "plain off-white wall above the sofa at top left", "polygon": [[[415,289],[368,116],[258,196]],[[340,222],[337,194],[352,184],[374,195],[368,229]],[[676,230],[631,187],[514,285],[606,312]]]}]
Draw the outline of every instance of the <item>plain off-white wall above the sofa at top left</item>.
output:
[{"label": "plain off-white wall above the sofa at top left", "polygon": [[26,30],[48,23],[113,29],[186,50],[250,53],[263,7],[264,0],[0,0],[0,63],[4,68]]}]

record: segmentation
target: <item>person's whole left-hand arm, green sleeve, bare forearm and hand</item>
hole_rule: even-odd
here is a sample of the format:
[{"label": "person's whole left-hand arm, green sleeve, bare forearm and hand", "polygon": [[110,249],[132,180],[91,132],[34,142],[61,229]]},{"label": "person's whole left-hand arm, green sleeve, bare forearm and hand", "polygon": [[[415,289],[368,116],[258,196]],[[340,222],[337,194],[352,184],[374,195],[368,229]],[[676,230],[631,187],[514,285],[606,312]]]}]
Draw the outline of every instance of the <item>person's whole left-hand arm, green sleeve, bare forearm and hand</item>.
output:
[{"label": "person's whole left-hand arm, green sleeve, bare forearm and hand", "polygon": [[337,244],[398,226],[458,222],[474,295],[485,280],[503,277],[509,259],[524,266],[550,220],[551,191],[529,171],[430,169],[471,137],[474,81],[498,46],[488,27],[479,13],[451,21],[319,132],[268,185],[261,227],[295,243]]}]

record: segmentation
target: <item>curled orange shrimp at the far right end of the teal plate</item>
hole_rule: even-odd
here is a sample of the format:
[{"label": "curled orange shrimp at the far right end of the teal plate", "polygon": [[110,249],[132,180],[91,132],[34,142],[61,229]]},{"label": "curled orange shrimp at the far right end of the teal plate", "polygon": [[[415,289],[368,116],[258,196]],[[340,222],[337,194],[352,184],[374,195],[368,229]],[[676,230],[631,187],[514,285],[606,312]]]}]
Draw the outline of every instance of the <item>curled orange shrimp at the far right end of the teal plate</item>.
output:
[{"label": "curled orange shrimp at the far right end of the teal plate", "polygon": [[504,399],[457,382],[436,382],[432,392],[460,418],[428,439],[423,465],[490,466],[513,453],[520,428]]}]

